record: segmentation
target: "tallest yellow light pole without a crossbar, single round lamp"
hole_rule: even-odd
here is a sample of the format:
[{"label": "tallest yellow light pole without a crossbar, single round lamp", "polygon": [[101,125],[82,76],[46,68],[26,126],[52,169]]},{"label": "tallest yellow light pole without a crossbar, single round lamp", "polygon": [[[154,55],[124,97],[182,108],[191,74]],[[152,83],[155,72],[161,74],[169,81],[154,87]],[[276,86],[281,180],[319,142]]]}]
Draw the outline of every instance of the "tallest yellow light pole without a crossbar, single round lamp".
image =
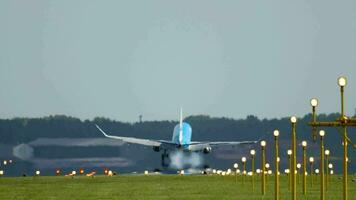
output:
[{"label": "tallest yellow light pole without a crossbar, single round lamp", "polygon": [[290,118],[292,124],[292,200],[297,199],[297,179],[296,179],[296,166],[297,166],[297,134],[296,134],[296,123],[297,117],[292,116]]}]

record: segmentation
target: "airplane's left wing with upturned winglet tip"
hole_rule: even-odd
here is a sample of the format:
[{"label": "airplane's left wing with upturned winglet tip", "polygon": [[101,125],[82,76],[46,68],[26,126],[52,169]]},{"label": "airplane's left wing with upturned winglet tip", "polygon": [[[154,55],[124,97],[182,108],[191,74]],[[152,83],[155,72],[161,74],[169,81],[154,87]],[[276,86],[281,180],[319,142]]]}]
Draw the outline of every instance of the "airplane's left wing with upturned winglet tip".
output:
[{"label": "airplane's left wing with upturned winglet tip", "polygon": [[170,141],[165,141],[165,140],[149,140],[149,139],[140,139],[134,137],[121,137],[115,135],[108,135],[97,124],[95,124],[95,126],[105,137],[120,140],[122,142],[140,144],[140,145],[151,146],[151,147],[153,146],[159,147],[162,144],[172,144]]}]

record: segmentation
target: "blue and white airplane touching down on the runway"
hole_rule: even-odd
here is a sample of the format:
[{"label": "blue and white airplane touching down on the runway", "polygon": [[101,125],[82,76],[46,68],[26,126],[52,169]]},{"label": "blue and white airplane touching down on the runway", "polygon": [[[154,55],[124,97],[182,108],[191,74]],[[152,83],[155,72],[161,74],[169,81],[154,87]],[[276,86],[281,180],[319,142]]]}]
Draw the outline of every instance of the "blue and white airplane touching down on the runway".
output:
[{"label": "blue and white airplane touching down on the runway", "polygon": [[[222,142],[198,142],[191,141],[192,138],[192,127],[183,122],[183,111],[180,110],[179,124],[177,124],[173,129],[172,140],[151,140],[151,139],[141,139],[134,137],[122,137],[115,135],[108,135],[105,133],[97,124],[95,124],[97,129],[107,138],[120,140],[125,143],[133,143],[144,146],[150,146],[153,151],[160,152],[161,164],[163,167],[168,167],[169,163],[166,161],[169,159],[170,152],[181,151],[181,152],[202,152],[208,154],[213,148],[221,146],[238,146],[238,145],[251,145],[256,144],[258,141],[222,141]],[[167,159],[167,160],[166,160]]]}]

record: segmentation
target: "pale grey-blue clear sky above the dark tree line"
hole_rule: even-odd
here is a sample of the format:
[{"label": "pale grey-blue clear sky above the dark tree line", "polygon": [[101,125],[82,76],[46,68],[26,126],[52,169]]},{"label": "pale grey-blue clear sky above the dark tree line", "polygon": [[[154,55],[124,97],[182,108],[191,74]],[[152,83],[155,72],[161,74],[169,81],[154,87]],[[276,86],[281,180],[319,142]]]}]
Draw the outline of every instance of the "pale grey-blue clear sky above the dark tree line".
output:
[{"label": "pale grey-blue clear sky above the dark tree line", "polygon": [[356,1],[0,0],[0,118],[356,108]]}]

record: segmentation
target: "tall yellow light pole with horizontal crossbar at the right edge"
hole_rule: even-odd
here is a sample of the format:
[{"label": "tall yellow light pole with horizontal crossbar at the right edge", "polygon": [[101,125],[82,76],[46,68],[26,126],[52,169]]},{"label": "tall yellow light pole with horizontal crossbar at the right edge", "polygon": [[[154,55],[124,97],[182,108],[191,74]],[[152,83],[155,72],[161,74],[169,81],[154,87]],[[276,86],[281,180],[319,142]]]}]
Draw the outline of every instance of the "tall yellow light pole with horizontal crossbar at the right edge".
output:
[{"label": "tall yellow light pole with horizontal crossbar at the right edge", "polygon": [[[345,144],[343,146],[343,199],[347,200],[348,199],[348,174],[347,174],[347,146],[348,143],[352,145],[353,148],[356,148],[356,145],[352,143],[350,138],[347,136],[347,127],[348,126],[356,126],[356,118],[349,118],[345,115],[345,109],[344,109],[344,88],[347,85],[347,79],[346,77],[339,77],[338,78],[338,85],[340,86],[340,94],[341,94],[341,116],[336,119],[335,121],[328,121],[328,122],[321,122],[321,121],[316,121],[316,112],[315,112],[315,106],[312,105],[313,107],[313,120],[312,122],[309,122],[308,124],[312,127],[312,132],[313,132],[313,138],[316,138],[314,135],[316,135],[316,128],[319,126],[329,126],[329,127],[336,127],[337,130],[340,132],[340,135],[342,135],[342,140],[343,143]],[[312,99],[313,100],[313,99]]]}]

